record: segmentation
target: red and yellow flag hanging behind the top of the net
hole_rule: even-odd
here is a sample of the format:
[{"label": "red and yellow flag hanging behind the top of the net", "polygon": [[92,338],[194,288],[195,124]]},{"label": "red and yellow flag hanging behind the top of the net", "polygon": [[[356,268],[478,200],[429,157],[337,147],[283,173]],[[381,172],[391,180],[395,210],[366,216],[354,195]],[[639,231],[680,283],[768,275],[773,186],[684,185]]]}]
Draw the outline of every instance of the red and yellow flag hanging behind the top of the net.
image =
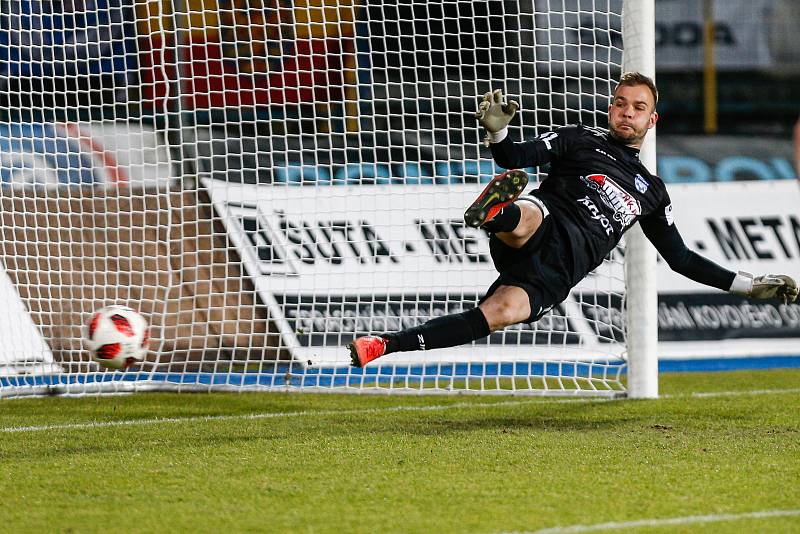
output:
[{"label": "red and yellow flag hanging behind the top of the net", "polygon": [[356,0],[190,0],[180,65],[169,4],[138,10],[142,96],[156,110],[175,79],[184,109],[355,101]]}]

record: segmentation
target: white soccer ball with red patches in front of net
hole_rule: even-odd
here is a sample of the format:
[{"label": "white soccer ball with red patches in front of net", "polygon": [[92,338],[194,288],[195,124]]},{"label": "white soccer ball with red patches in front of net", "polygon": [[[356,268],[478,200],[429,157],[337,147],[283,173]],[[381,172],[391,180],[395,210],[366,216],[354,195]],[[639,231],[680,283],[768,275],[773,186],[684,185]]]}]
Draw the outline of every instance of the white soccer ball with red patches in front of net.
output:
[{"label": "white soccer ball with red patches in front of net", "polygon": [[86,345],[92,359],[109,369],[127,369],[144,361],[150,344],[147,320],[127,306],[106,306],[89,320]]}]

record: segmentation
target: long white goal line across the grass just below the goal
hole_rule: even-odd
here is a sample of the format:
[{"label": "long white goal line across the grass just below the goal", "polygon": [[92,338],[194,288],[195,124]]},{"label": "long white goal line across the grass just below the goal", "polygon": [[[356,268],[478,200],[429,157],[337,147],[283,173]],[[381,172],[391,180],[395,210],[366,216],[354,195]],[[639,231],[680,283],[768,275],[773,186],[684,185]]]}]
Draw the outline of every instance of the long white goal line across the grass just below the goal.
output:
[{"label": "long white goal line across the grass just below the goal", "polygon": [[[714,391],[709,393],[689,393],[685,395],[662,395],[662,399],[681,398],[709,398],[709,397],[734,397],[744,395],[777,395],[785,393],[800,393],[800,388],[790,389],[757,389],[744,391]],[[621,399],[607,399],[594,397],[580,397],[570,399],[527,399],[502,402],[457,402],[453,404],[437,404],[432,406],[387,406],[383,408],[357,408],[352,410],[303,410],[299,412],[270,412],[237,415],[200,415],[191,417],[158,417],[152,419],[129,419],[124,421],[91,421],[88,423],[66,423],[40,426],[11,426],[0,428],[0,433],[15,432],[43,432],[48,430],[80,430],[87,428],[109,428],[118,426],[158,425],[174,423],[193,423],[198,421],[233,421],[276,419],[281,417],[325,417],[329,415],[359,415],[389,412],[433,412],[452,410],[458,408],[494,408],[508,406],[522,406],[525,404],[553,404],[553,403],[590,403],[590,402],[618,402]]]}]

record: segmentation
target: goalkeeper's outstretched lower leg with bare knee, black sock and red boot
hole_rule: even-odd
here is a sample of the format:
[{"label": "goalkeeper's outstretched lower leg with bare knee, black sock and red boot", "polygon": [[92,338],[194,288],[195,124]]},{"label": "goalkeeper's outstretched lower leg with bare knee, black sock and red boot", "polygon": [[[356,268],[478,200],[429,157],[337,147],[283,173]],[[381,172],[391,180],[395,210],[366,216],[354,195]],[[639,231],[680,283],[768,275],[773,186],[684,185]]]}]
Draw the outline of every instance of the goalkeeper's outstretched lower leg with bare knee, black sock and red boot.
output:
[{"label": "goalkeeper's outstretched lower leg with bare knee, black sock and red boot", "polygon": [[437,317],[430,321],[381,336],[364,336],[348,345],[354,366],[363,367],[392,352],[431,350],[464,345],[531,315],[528,293],[515,286],[500,286],[477,308]]}]

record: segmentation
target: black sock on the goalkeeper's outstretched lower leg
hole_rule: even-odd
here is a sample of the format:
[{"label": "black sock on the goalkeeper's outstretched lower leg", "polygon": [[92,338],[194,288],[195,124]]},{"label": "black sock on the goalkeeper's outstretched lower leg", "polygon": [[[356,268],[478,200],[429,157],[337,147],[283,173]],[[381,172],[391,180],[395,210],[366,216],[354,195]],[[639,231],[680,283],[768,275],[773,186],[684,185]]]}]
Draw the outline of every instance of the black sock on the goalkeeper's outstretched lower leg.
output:
[{"label": "black sock on the goalkeeper's outstretched lower leg", "polygon": [[490,333],[489,323],[486,322],[481,309],[472,308],[462,313],[437,317],[408,330],[384,334],[381,337],[388,342],[386,344],[386,354],[388,354],[456,347],[486,337]]}]

